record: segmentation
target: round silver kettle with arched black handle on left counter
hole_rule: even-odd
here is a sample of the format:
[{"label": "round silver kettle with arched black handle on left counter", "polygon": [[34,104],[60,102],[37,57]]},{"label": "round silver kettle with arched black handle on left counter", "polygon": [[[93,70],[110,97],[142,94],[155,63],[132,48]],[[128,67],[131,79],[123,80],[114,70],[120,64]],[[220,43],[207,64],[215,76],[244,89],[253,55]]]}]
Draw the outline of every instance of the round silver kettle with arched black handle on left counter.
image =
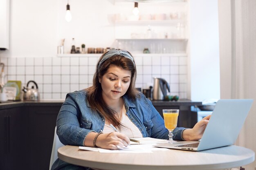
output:
[{"label": "round silver kettle with arched black handle on left counter", "polygon": [[[30,82],[34,83],[36,85],[36,88],[34,88],[34,86],[29,88]],[[30,80],[29,82],[27,82],[27,87],[23,87],[22,91],[24,92],[23,100],[25,100],[25,101],[39,101],[40,100],[38,86],[37,86],[36,82],[34,82],[33,80]]]}]

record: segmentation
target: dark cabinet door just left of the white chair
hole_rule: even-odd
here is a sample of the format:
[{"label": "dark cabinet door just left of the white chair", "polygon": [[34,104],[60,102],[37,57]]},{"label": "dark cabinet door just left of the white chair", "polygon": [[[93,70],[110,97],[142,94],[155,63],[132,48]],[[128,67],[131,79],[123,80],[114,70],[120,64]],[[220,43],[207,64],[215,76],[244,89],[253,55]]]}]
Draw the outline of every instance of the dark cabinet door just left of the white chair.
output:
[{"label": "dark cabinet door just left of the white chair", "polygon": [[52,153],[54,128],[61,106],[27,106],[28,170],[47,170]]}]

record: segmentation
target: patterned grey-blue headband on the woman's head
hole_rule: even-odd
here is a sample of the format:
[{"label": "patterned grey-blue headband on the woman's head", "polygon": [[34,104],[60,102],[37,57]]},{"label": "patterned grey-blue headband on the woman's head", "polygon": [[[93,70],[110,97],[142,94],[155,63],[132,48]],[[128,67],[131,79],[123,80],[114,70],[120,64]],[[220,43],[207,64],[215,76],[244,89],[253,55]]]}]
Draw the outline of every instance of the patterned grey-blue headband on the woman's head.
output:
[{"label": "patterned grey-blue headband on the woman's head", "polygon": [[130,60],[132,60],[133,65],[135,66],[134,60],[132,58],[132,56],[124,50],[116,50],[116,49],[112,49],[110,51],[108,51],[101,59],[101,61],[99,62],[99,66],[98,66],[98,70],[101,67],[101,64],[103,62],[105,62],[106,60],[108,60],[110,57],[114,56],[114,55],[122,55]]}]

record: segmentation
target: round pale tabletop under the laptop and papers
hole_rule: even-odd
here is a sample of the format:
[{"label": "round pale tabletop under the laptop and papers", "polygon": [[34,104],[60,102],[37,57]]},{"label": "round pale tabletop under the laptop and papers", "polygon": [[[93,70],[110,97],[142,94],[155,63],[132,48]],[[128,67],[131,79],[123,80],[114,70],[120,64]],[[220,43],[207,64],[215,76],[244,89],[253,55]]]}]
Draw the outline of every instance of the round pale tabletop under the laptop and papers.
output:
[{"label": "round pale tabletop under the laptop and papers", "polygon": [[234,145],[200,152],[170,149],[153,153],[99,153],[63,146],[58,149],[58,157],[102,170],[218,170],[252,163],[255,153]]}]

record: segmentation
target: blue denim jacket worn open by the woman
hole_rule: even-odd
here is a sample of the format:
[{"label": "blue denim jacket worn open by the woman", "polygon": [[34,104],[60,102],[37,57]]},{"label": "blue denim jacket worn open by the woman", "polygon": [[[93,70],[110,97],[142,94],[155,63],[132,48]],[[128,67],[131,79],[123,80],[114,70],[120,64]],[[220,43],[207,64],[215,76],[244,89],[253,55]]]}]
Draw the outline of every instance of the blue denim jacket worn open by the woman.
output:
[{"label": "blue denim jacket worn open by the woman", "polygon": [[[132,101],[123,96],[126,115],[137,126],[143,137],[168,139],[168,130],[164,120],[153,104],[142,93]],[[105,118],[90,107],[85,90],[68,93],[58,114],[57,135],[64,145],[83,146],[85,137],[90,132],[101,132]],[[183,140],[185,128],[173,130],[174,140]],[[60,163],[60,160],[58,160]],[[55,163],[54,163],[55,164]],[[56,166],[56,165],[55,165]]]}]

